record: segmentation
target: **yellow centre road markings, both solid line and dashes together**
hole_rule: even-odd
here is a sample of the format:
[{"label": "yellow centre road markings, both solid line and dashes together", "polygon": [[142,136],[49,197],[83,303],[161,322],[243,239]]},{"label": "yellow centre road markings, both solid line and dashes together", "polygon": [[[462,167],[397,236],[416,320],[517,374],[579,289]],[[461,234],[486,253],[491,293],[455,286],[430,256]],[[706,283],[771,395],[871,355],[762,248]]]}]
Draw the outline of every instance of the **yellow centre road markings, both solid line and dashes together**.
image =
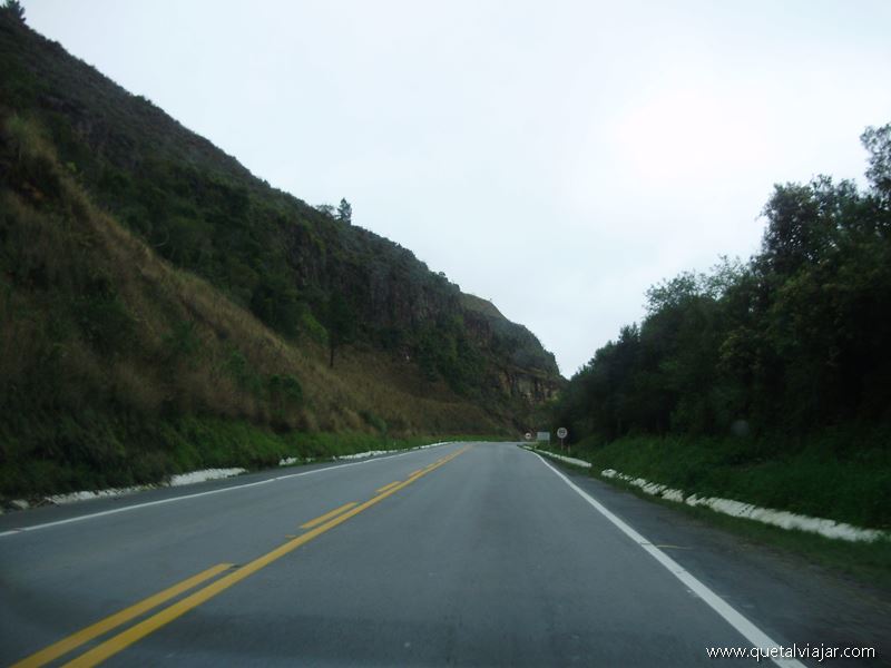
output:
[{"label": "yellow centre road markings, both solid line and dashes together", "polygon": [[[106,659],[112,657],[119,651],[126,649],[134,642],[137,642],[138,640],[145,638],[149,633],[157,631],[159,628],[182,617],[189,610],[197,608],[205,601],[208,601],[209,599],[225,591],[233,584],[241,582],[248,576],[252,576],[258,570],[267,567],[273,561],[276,561],[282,557],[284,557],[285,554],[293,552],[298,547],[306,544],[314,538],[322,536],[323,533],[330,531],[334,527],[337,527],[339,524],[342,524],[346,520],[354,518],[359,513],[368,510],[375,503],[380,503],[381,501],[383,501],[391,494],[394,494],[399,490],[407,488],[412,482],[419,480],[420,478],[427,475],[431,471],[453,460],[456,456],[458,456],[462,452],[466,452],[468,449],[469,446],[462,448],[461,450],[458,450],[452,454],[449,454],[447,456],[437,460],[429,466],[415,471],[414,473],[409,475],[409,478],[404,481],[391,482],[390,484],[378,490],[376,495],[372,497],[364,503],[361,504],[356,504],[353,502],[346,503],[344,505],[341,505],[340,508],[332,510],[331,512],[326,512],[325,514],[320,515],[319,518],[310,522],[306,522],[301,527],[302,529],[309,529],[306,533],[302,533],[301,536],[294,538],[293,540],[290,540],[286,543],[275,548],[271,552],[267,552],[262,557],[257,557],[256,559],[246,563],[242,568],[223,576],[222,578],[210,582],[203,589],[199,589],[194,593],[190,593],[189,596],[180,599],[179,601],[173,603],[172,606],[160,610],[159,612],[156,612],[151,617],[144,619],[143,621],[130,627],[129,629],[118,633],[117,636],[109,638],[108,640],[101,642],[100,645],[96,646],[86,654],[69,661],[68,664],[66,664],[66,666],[70,667],[96,666],[105,661]],[[156,593],[155,596],[149,597],[144,601],[130,606],[129,608],[121,610],[120,612],[111,615],[110,617],[107,617],[67,638],[63,638],[62,640],[59,640],[53,645],[50,645],[49,647],[38,651],[37,654],[33,654],[30,657],[22,659],[18,664],[14,664],[12,668],[26,668],[26,667],[32,668],[37,666],[45,666],[46,664],[58,659],[59,657],[68,654],[69,651],[72,651],[74,649],[80,647],[81,645],[89,642],[95,638],[98,638],[99,636],[139,617],[145,612],[148,612],[149,610],[167,602],[168,600],[179,596],[180,593],[188,591],[189,589],[193,589],[194,587],[197,587],[198,584],[204,583],[205,581],[214,578],[215,576],[229,570],[231,568],[232,564],[228,563],[221,563],[218,566],[209,568],[206,571],[198,573],[197,576],[184,580],[183,582],[179,582],[178,584],[165,589],[164,591]]]}]

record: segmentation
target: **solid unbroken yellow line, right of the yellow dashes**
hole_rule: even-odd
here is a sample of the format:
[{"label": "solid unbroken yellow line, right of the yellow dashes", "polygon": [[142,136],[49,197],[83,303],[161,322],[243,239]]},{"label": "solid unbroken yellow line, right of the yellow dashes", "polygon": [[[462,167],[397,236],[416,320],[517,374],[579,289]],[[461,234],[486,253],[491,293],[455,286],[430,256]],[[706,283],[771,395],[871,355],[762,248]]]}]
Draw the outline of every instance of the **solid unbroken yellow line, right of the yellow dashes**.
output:
[{"label": "solid unbroken yellow line, right of the yellow dashes", "polygon": [[[439,462],[435,465],[435,468],[439,468],[439,466],[443,465],[444,463],[453,460],[456,456],[458,456],[462,452],[467,452],[469,449],[470,449],[470,445],[468,445],[466,448],[462,448],[461,450],[452,453],[450,456],[444,458],[443,461]],[[179,617],[182,617],[183,615],[185,615],[189,610],[192,610],[194,608],[197,608],[202,603],[210,600],[216,595],[225,591],[226,589],[228,589],[233,584],[236,584],[237,582],[241,582],[242,580],[244,580],[248,576],[252,576],[255,572],[257,572],[258,570],[261,570],[262,568],[267,567],[273,561],[276,561],[277,559],[281,559],[282,557],[287,554],[288,552],[293,552],[298,547],[310,542],[311,540],[313,540],[314,538],[316,538],[319,536],[322,536],[324,532],[330,531],[334,527],[337,527],[339,524],[342,524],[343,522],[345,522],[350,518],[354,518],[360,512],[362,512],[364,510],[368,510],[369,508],[371,508],[375,503],[380,503],[381,501],[383,501],[384,499],[386,499],[391,494],[394,494],[399,490],[410,485],[412,482],[414,482],[415,480],[419,480],[422,475],[425,475],[427,473],[429,473],[433,469],[429,469],[428,471],[424,471],[423,473],[418,475],[418,478],[413,478],[411,480],[407,480],[404,482],[400,482],[396,487],[390,488],[389,490],[378,494],[376,497],[372,497],[371,499],[369,499],[368,501],[365,501],[361,505],[356,505],[355,508],[352,508],[351,510],[347,510],[346,512],[339,514],[337,517],[329,520],[324,524],[321,524],[321,525],[316,527],[315,529],[312,529],[312,530],[307,531],[306,533],[303,533],[303,534],[298,536],[294,540],[291,540],[291,541],[284,543],[283,546],[280,546],[280,547],[275,548],[273,551],[267,552],[266,554],[263,554],[262,557],[257,557],[256,559],[254,559],[249,563],[246,563],[245,566],[243,566],[238,570],[236,570],[236,571],[234,571],[234,572],[232,572],[232,573],[229,573],[227,576],[224,576],[224,577],[219,578],[218,580],[215,580],[214,582],[210,582],[210,584],[208,584],[204,589],[199,589],[198,591],[196,591],[194,593],[190,593],[186,598],[175,602],[174,605],[169,606],[168,608],[165,608],[160,612],[156,612],[151,617],[149,617],[147,619],[144,619],[143,621],[140,621],[139,623],[130,627],[126,631],[123,631],[123,632],[118,633],[117,636],[114,636],[112,638],[109,638],[108,640],[106,640],[101,645],[98,645],[97,647],[92,648],[90,651],[88,651],[88,652],[81,655],[80,657],[78,657],[77,659],[66,664],[66,668],[69,668],[69,667],[70,668],[82,668],[82,667],[97,666],[98,664],[101,664],[106,659],[108,659],[108,658],[115,656],[116,654],[118,654],[119,651],[128,648],[134,642],[137,642],[138,640],[141,640],[143,638],[145,638],[149,633],[153,633],[153,632],[157,631],[159,628],[170,623],[175,619],[178,619]]]}]

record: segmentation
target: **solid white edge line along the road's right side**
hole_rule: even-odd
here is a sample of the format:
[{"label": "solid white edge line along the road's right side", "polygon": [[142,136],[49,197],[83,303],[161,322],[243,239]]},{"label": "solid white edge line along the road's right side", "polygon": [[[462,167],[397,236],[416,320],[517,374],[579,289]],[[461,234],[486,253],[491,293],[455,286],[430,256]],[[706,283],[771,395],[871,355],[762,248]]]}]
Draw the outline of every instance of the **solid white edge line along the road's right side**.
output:
[{"label": "solid white edge line along the road's right side", "polygon": [[[715,612],[717,612],[721,617],[724,618],[727,623],[730,623],[733,628],[735,628],[743,637],[748,640],[753,647],[758,647],[761,649],[770,650],[774,647],[780,647],[777,642],[775,642],[767,633],[762,631],[754,623],[748,621],[745,617],[743,617],[740,612],[736,611],[730,603],[727,603],[723,598],[716,595],[714,591],[708,589],[705,584],[703,584],[699,580],[697,580],[693,574],[689,573],[686,569],[684,569],[677,561],[668,557],[665,552],[659,550],[655,547],[650,541],[646,538],[640,536],[637,531],[631,529],[628,524],[626,524],[623,520],[617,518],[609,510],[607,510],[599,501],[594,499],[590,494],[579,488],[576,483],[569,480],[566,475],[560,473],[557,469],[555,469],[550,463],[545,461],[545,459],[533,452],[541,463],[545,464],[548,469],[554,471],[554,473],[562,479],[562,481],[568,484],[578,495],[580,495],[585,501],[590,503],[597,512],[604,515],[607,520],[613,522],[623,533],[625,533],[628,538],[630,538],[634,542],[640,546],[644,550],[649,552],[649,554],[656,559],[660,564],[663,564],[669,573],[672,573],[675,578],[681,580],[688,589],[691,589],[694,593],[696,593],[703,601],[705,601],[708,607],[711,607]],[[782,658],[773,658],[771,659],[777,666],[783,666],[784,668],[804,668],[804,665],[796,660],[796,659],[782,659]]]}]

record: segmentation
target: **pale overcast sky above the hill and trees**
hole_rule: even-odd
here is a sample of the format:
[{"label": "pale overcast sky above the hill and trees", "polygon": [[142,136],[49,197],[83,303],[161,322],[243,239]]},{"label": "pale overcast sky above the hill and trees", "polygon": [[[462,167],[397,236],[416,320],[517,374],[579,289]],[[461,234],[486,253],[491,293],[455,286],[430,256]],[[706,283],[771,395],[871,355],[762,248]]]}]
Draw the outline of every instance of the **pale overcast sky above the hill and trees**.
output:
[{"label": "pale overcast sky above the hill and trees", "polygon": [[747,258],[774,183],[856,178],[891,2],[23,0],[28,23],[527,325],[565,375]]}]

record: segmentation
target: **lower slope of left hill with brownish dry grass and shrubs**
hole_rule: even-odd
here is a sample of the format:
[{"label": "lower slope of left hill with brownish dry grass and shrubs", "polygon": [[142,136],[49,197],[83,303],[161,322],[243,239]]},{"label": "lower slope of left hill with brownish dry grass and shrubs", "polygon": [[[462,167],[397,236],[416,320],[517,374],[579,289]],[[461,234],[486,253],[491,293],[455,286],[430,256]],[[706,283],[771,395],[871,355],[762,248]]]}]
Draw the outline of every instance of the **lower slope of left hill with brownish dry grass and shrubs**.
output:
[{"label": "lower slope of left hill with brownish dry grass and shrubs", "polygon": [[330,369],[98,209],[38,126],[2,124],[0,490],[270,464],[301,451],[288,432],[505,429],[372,350]]}]

